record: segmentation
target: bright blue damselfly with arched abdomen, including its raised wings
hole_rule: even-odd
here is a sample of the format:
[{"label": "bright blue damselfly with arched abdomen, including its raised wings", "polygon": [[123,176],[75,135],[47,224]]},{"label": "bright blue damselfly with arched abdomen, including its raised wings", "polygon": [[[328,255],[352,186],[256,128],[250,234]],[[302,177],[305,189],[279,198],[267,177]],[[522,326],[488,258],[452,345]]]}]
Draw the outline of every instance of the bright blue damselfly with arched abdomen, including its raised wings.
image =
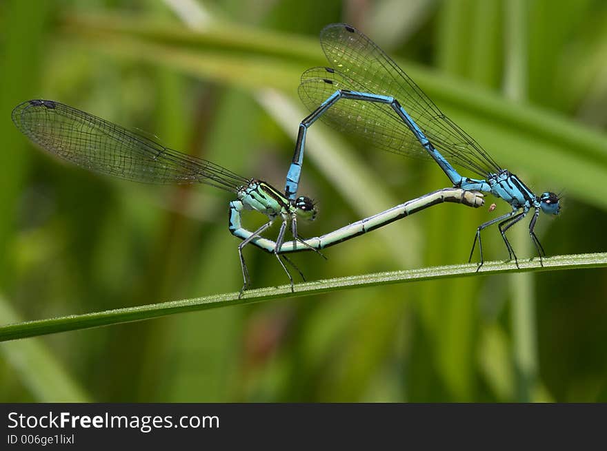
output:
[{"label": "bright blue damselfly with arched abdomen, including its raised wings", "polygon": [[[310,112],[299,125],[299,135],[288,171],[286,196],[297,196],[304,162],[306,132],[318,118],[371,146],[395,154],[432,158],[453,186],[492,193],[512,210],[481,224],[476,231],[470,258],[478,241],[481,261],[481,230],[499,223],[498,229],[510,260],[518,260],[506,231],[531,209],[529,234],[539,254],[546,255],[535,235],[539,211],[559,214],[559,196],[552,192],[536,196],[515,174],[504,169],[464,130],[452,122],[383,50],[356,28],[345,23],[327,25],[320,36],[321,48],[331,67],[312,67],[301,76],[299,96]],[[456,165],[480,176],[461,176]]]}]

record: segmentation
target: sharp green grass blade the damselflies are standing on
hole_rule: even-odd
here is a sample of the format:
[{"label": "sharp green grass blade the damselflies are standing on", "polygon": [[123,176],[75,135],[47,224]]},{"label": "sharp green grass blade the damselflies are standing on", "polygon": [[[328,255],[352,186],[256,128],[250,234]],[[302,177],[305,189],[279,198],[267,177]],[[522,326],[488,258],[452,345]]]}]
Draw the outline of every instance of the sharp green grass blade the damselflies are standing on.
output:
[{"label": "sharp green grass blade the damselflies are standing on", "polygon": [[480,273],[476,272],[476,264],[456,264],[449,266],[433,266],[430,268],[413,269],[408,271],[390,271],[386,273],[373,273],[339,277],[335,279],[306,282],[295,286],[295,293],[291,293],[288,285],[267,287],[250,290],[239,299],[238,293],[223,293],[193,299],[161,302],[136,307],[116,308],[114,310],[86,313],[83,315],[69,315],[50,319],[8,324],[0,327],[0,342],[12,339],[35,337],[50,333],[76,331],[80,329],[109,326],[126,322],[141,321],[175,313],[200,311],[209,308],[225,307],[239,304],[254,304],[283,297],[297,297],[327,293],[338,290],[363,288],[402,282],[418,282],[422,280],[437,280],[447,277],[464,277],[470,275],[486,275],[497,273],[515,273],[529,271],[550,271],[557,269],[586,269],[607,266],[607,253],[590,253],[577,255],[558,255],[544,259],[544,266],[539,260],[519,262],[520,269],[512,263],[486,262]]}]

